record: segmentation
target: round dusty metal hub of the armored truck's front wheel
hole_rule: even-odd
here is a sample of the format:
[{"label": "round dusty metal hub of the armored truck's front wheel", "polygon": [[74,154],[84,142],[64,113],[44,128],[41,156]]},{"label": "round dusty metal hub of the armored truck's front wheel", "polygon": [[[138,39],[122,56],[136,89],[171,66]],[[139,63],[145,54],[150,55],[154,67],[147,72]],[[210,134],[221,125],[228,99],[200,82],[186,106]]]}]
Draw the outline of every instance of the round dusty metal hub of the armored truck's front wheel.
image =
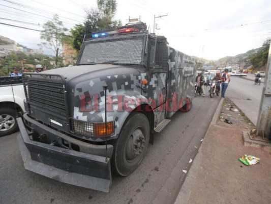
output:
[{"label": "round dusty metal hub of the armored truck's front wheel", "polygon": [[132,161],[142,154],[145,147],[145,137],[142,131],[137,128],[129,137],[126,147],[126,158],[128,161]]}]

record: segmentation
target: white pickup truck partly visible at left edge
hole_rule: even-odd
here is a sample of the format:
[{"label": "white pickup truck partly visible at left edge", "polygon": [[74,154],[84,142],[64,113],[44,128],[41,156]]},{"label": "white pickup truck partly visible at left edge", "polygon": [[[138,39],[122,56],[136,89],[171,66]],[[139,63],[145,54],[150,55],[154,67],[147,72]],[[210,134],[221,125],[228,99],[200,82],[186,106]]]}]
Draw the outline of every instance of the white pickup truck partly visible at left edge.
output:
[{"label": "white pickup truck partly visible at left edge", "polygon": [[22,77],[0,77],[0,93],[1,137],[18,131],[16,116],[21,116],[22,113],[25,112],[23,105],[25,95],[22,85]]}]

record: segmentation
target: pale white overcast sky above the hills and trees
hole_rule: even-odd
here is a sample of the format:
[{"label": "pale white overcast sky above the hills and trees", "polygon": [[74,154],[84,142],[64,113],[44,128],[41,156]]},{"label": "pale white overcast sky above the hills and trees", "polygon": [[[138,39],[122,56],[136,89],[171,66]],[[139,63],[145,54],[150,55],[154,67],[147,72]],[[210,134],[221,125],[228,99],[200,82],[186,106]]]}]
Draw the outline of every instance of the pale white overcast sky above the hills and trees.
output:
[{"label": "pale white overcast sky above the hills and trees", "polygon": [[[271,37],[270,0],[117,0],[117,4],[116,20],[125,24],[129,16],[140,17],[151,32],[154,15],[167,14],[155,19],[155,32],[164,35],[170,46],[200,58],[235,56],[260,47]],[[57,13],[70,29],[83,23],[85,9],[96,7],[96,0],[0,0],[0,23],[42,30],[42,24]],[[37,31],[4,24],[0,24],[0,35],[29,48],[38,48],[41,42]]]}]

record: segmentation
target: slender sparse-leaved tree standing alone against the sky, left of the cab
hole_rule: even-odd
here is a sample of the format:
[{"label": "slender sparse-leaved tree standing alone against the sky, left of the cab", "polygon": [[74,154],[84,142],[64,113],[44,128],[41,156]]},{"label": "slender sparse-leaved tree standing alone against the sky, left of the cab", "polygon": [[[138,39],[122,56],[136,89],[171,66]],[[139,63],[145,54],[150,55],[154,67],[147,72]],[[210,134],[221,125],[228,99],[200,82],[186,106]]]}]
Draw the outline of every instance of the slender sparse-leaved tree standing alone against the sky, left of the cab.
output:
[{"label": "slender sparse-leaved tree standing alone against the sky, left of the cab", "polygon": [[59,20],[57,14],[53,16],[52,20],[43,24],[41,39],[47,42],[42,42],[40,45],[53,51],[55,55],[55,66],[57,66],[61,58],[62,44],[67,37],[67,35],[65,35],[66,31],[68,31],[68,29],[64,27],[63,22]]}]

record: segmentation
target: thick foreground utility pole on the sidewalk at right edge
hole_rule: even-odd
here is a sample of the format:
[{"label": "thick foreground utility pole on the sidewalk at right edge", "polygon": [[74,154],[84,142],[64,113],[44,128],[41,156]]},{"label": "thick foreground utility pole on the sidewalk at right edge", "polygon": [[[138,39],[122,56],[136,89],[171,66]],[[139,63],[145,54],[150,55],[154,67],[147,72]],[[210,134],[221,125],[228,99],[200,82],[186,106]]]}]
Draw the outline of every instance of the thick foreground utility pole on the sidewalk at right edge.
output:
[{"label": "thick foreground utility pole on the sidewalk at right edge", "polygon": [[[257,119],[256,134],[268,137],[271,127],[271,46],[269,46],[268,60],[265,69],[265,80],[262,89],[260,111]],[[271,138],[269,138],[271,139]]]}]

